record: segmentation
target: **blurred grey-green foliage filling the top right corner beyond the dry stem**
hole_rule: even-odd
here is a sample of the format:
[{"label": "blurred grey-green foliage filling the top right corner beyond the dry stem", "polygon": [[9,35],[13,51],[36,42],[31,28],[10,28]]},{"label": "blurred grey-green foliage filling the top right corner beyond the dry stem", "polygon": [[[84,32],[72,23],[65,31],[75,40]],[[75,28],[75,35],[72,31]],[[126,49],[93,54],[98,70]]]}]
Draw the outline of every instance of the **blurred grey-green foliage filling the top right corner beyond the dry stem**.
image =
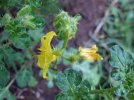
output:
[{"label": "blurred grey-green foliage filling the top right corner beyond the dry stem", "polygon": [[110,15],[103,29],[110,38],[114,38],[122,45],[132,49],[133,23],[134,2],[132,0],[119,0],[119,4],[110,9]]}]

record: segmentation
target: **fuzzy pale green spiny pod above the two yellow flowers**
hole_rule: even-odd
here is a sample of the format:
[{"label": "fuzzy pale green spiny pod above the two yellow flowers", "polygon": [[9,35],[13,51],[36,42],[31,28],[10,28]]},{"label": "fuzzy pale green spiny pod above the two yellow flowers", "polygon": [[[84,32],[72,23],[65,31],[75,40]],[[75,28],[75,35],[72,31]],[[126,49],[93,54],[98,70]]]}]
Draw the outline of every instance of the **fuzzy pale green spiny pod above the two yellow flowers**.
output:
[{"label": "fuzzy pale green spiny pod above the two yellow flowers", "polygon": [[57,30],[58,38],[65,40],[71,39],[75,36],[77,31],[77,23],[80,20],[80,16],[70,17],[67,12],[61,11],[54,20],[54,26]]}]

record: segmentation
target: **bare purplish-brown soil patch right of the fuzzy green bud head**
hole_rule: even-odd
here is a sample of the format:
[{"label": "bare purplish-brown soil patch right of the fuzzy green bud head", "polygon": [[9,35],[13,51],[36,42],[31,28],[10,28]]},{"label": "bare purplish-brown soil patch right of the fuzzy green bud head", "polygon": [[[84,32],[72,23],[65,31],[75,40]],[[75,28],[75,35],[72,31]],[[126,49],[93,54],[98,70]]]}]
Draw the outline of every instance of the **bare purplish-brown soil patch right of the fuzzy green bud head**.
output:
[{"label": "bare purplish-brown soil patch right of the fuzzy green bud head", "polygon": [[70,41],[69,46],[83,46],[104,16],[107,0],[61,0],[64,10],[74,16],[80,14],[82,19],[78,24],[78,32],[75,39]]}]

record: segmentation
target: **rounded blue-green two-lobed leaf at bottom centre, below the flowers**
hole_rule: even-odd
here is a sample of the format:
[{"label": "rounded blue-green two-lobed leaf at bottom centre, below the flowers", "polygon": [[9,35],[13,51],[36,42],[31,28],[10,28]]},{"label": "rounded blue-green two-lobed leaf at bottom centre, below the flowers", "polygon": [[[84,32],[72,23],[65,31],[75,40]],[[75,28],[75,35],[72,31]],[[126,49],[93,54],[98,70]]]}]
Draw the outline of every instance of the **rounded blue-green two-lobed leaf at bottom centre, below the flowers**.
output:
[{"label": "rounded blue-green two-lobed leaf at bottom centre, below the flowers", "polygon": [[[64,92],[70,91],[77,87],[82,81],[81,74],[72,69],[66,70],[64,73],[57,75],[57,86]],[[72,90],[71,90],[72,91]]]}]

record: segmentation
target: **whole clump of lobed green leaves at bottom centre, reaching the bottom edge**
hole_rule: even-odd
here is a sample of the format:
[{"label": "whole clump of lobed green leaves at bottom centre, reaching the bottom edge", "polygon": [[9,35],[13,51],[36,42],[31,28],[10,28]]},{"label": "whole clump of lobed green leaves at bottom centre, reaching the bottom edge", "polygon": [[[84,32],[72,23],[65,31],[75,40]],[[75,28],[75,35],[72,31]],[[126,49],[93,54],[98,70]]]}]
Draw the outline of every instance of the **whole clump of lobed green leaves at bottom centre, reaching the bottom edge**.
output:
[{"label": "whole clump of lobed green leaves at bottom centre, reaching the bottom edge", "polygon": [[61,93],[56,96],[56,100],[87,100],[90,95],[87,94],[91,87],[89,82],[82,80],[80,72],[72,69],[59,73],[56,78],[56,84]]}]

